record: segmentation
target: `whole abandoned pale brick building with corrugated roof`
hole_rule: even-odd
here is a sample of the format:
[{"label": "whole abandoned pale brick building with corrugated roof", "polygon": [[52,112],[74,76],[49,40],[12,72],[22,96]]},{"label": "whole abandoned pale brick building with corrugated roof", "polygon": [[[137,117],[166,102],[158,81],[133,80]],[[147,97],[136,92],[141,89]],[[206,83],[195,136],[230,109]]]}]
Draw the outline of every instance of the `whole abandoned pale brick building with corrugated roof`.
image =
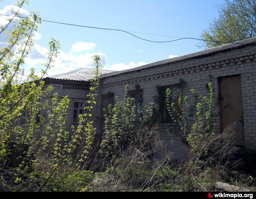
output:
[{"label": "whole abandoned pale brick building with corrugated roof", "polygon": [[[154,102],[159,88],[172,89],[175,101],[180,79],[187,84],[184,96],[192,100],[194,96],[190,89],[207,96],[209,92],[206,85],[212,81],[214,112],[219,113],[216,118],[217,130],[221,133],[229,123],[236,121],[237,145],[256,149],[256,37],[133,69],[101,72],[97,105],[93,108],[94,124],[99,135],[102,129],[102,108],[112,103],[116,96],[122,99],[127,83],[129,93],[136,102],[148,104]],[[53,85],[54,92],[59,92],[59,96],[68,95],[71,99],[68,128],[77,123],[78,114],[82,113],[80,109],[87,100],[90,80],[91,70],[83,68],[45,78],[46,85]],[[157,109],[161,106],[155,104]],[[177,159],[182,159],[185,150],[173,130],[177,123],[168,117],[165,108],[159,114],[158,126],[166,147],[174,152]]]}]

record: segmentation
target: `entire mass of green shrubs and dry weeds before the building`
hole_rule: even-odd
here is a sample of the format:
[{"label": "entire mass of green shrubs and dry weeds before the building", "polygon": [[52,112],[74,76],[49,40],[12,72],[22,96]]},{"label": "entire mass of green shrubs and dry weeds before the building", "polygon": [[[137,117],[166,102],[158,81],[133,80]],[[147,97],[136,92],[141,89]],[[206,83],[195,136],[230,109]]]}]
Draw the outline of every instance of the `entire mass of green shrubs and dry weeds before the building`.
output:
[{"label": "entire mass of green shrubs and dry weeds before the building", "polygon": [[[19,7],[24,3],[19,1]],[[19,12],[14,14],[19,16]],[[79,115],[77,129],[69,134],[68,96],[54,93],[50,102],[48,96],[54,89],[46,88],[43,81],[57,56],[59,42],[49,42],[41,77],[32,69],[25,80],[20,79],[39,23],[36,13],[21,19],[11,33],[9,46],[0,51],[1,191],[217,191],[216,181],[255,186],[255,176],[234,170],[239,162],[233,158],[237,148],[232,125],[222,134],[215,132],[212,83],[208,84],[208,96],[191,90],[196,96],[193,115],[193,102],[183,93],[184,81],[180,81],[179,111],[170,102],[170,89],[166,89],[167,108],[171,117],[171,110],[176,112],[173,119],[179,124],[188,153],[183,162],[177,162],[159,138],[154,104],[138,107],[128,95],[128,85],[124,99],[116,98],[108,106],[102,140],[94,140],[91,110],[101,67],[96,55],[89,100],[84,114]],[[155,159],[159,151],[165,156]]]}]

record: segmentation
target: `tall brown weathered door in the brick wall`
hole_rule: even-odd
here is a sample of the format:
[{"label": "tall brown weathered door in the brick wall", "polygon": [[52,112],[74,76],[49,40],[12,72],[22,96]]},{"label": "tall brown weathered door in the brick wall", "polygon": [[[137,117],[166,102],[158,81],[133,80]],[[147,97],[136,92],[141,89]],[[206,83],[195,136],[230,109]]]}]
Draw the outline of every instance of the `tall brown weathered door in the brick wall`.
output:
[{"label": "tall brown weathered door in the brick wall", "polygon": [[221,92],[221,122],[222,131],[231,123],[234,127],[236,145],[244,146],[244,121],[242,112],[240,75],[221,77],[219,81]]}]

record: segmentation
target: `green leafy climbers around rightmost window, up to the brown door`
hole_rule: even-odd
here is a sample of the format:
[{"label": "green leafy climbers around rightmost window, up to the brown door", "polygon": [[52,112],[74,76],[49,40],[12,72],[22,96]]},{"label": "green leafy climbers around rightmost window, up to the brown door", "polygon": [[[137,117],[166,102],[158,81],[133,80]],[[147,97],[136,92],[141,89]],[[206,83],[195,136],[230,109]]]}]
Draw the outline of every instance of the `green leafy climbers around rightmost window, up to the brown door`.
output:
[{"label": "green leafy climbers around rightmost window, up to the brown door", "polygon": [[[184,97],[184,88],[186,82],[180,80],[180,93],[178,97],[179,112],[177,111],[176,104],[170,101],[170,95],[172,90],[166,89],[166,106],[175,122],[180,125],[179,137],[190,149],[193,149],[195,144],[202,139],[207,137],[214,132],[215,126],[215,115],[213,114],[214,105],[214,90],[212,83],[208,83],[208,96],[200,95],[195,89],[190,91],[194,94],[195,100],[191,102],[188,96]],[[184,103],[185,102],[185,103]],[[195,107],[195,115],[191,114]],[[176,114],[174,118],[173,111]],[[195,142],[195,139],[197,142]]]}]

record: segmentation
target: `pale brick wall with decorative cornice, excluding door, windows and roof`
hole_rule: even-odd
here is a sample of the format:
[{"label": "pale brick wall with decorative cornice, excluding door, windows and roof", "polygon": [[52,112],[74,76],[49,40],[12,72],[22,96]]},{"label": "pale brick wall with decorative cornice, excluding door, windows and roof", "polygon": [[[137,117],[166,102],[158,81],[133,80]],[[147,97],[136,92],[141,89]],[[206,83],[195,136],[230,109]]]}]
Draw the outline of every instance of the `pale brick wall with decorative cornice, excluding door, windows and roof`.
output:
[{"label": "pale brick wall with decorative cornice, excluding door, windows and roof", "polygon": [[[240,75],[242,90],[242,109],[244,116],[244,141],[245,148],[256,149],[256,47],[255,45],[245,46],[237,49],[214,53],[209,56],[192,58],[170,64],[160,65],[153,68],[137,70],[129,73],[118,74],[117,76],[105,77],[101,80],[98,88],[97,104],[93,108],[94,125],[98,134],[102,131],[100,123],[100,96],[109,92],[114,93],[123,99],[125,84],[129,84],[129,90],[135,90],[136,85],[143,89],[144,104],[154,102],[157,96],[157,87],[178,84],[180,79],[185,80],[187,86],[184,89],[184,96],[193,101],[193,93],[190,89],[203,96],[208,96],[206,84],[212,79],[214,87],[214,112],[220,112],[219,78],[225,76]],[[54,84],[54,92],[59,96],[68,95],[71,99],[68,109],[68,128],[72,124],[72,106],[74,100],[86,101],[88,89],[63,88],[62,84]],[[158,108],[157,105],[155,105]],[[221,118],[216,120],[217,130],[221,129]],[[173,123],[158,123],[161,138],[165,140],[179,139],[172,129],[177,126]]]}]

